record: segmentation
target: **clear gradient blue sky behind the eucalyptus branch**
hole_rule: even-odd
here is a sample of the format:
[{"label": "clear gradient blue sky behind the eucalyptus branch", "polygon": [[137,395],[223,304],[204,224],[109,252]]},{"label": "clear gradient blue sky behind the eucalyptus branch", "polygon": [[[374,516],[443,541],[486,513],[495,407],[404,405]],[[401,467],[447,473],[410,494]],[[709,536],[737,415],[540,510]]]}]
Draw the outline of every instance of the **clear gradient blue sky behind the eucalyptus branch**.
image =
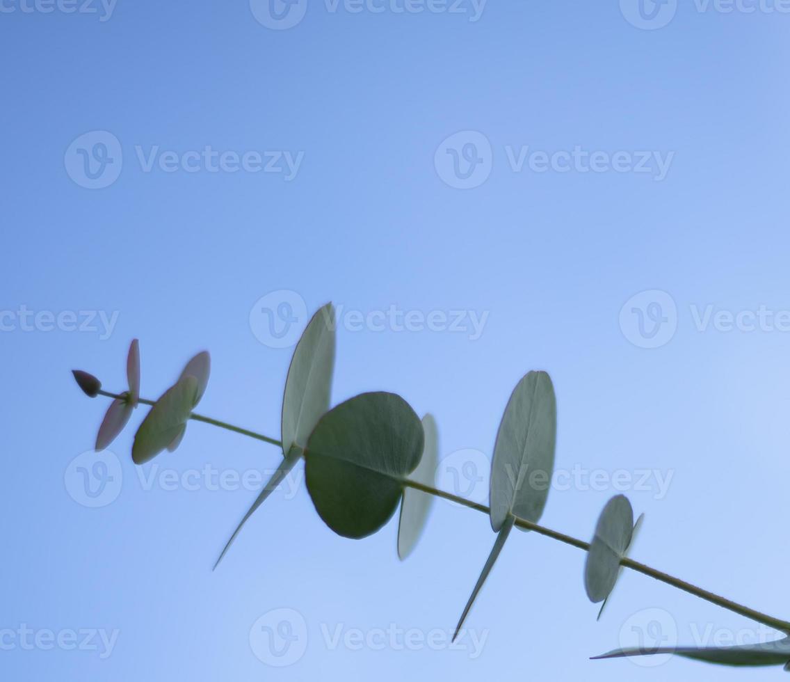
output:
[{"label": "clear gradient blue sky behind the eucalyptus branch", "polygon": [[[333,402],[392,390],[434,413],[439,482],[450,488],[453,470],[471,471],[467,461],[487,479],[510,390],[525,371],[547,369],[557,468],[600,472],[602,482],[552,491],[543,521],[590,537],[625,470],[625,492],[645,512],[634,558],[790,616],[790,16],[773,3],[726,13],[683,0],[638,28],[636,0],[622,5],[489,2],[471,21],[468,3],[461,13],[399,13],[389,3],[355,13],[309,0],[291,9],[306,9],[302,21],[278,30],[256,20],[268,11],[258,0],[119,0],[111,16],[98,3],[67,13],[2,0],[0,629],[119,631],[107,658],[85,647],[27,650],[8,635],[3,679],[781,673],[589,661],[656,623],[687,643],[766,633],[629,573],[596,623],[583,554],[522,533],[468,618],[485,638],[481,651],[469,641],[408,650],[403,637],[333,646],[324,633],[338,625],[343,637],[361,631],[375,642],[390,624],[446,637],[491,548],[487,518],[437,501],[401,564],[394,522],[364,541],[337,537],[297,477],[295,495],[273,495],[212,573],[255,492],[145,481],[205,465],[271,469],[276,448],[190,424],[175,454],[137,470],[130,445],[141,409],[107,455],[120,462],[117,499],[85,507],[70,465],[92,447],[107,407],[85,398],[70,370],[122,390],[134,337],[144,396],[156,398],[209,349],[199,411],[277,436],[292,349],[270,347],[262,313],[250,324],[261,297],[292,292],[274,300],[295,302],[294,333],[306,322],[300,302],[308,312],[327,300],[365,315],[471,311],[487,315],[479,338],[341,324]],[[112,139],[96,131],[120,148],[107,147],[113,163],[103,168],[96,145]],[[451,186],[453,144],[482,161],[476,187]],[[145,171],[137,159],[136,148],[147,158],[207,145],[303,156],[290,180],[205,166]],[[674,156],[660,181],[611,168],[514,172],[507,150],[523,145],[610,160]],[[85,154],[107,187],[85,187]],[[273,168],[283,168],[277,158]],[[761,307],[773,323],[753,328],[742,315],[728,330],[728,313]],[[25,309],[40,314],[32,330]],[[724,315],[701,330],[694,315],[706,310]],[[78,331],[68,315],[55,325],[47,317],[64,311],[117,311],[117,323],[106,334],[98,320]],[[457,454],[469,449],[479,452]],[[658,476],[671,477],[668,488]],[[471,493],[485,489],[483,480]],[[273,609],[290,609],[286,626],[301,639],[285,658],[259,660],[250,630],[282,613],[267,616]],[[269,665],[286,658],[291,665]]]}]

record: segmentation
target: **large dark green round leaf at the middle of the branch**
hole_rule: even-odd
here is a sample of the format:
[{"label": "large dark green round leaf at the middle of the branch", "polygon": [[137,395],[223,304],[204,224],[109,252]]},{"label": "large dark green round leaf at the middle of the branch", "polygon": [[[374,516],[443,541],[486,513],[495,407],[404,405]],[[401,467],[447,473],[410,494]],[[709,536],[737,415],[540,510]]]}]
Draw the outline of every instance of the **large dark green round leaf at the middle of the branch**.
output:
[{"label": "large dark green round leaf at the middle of the branch", "polygon": [[423,443],[419,417],[395,394],[361,394],[322,416],[307,441],[305,477],[326,525],[353,538],[384,526]]}]

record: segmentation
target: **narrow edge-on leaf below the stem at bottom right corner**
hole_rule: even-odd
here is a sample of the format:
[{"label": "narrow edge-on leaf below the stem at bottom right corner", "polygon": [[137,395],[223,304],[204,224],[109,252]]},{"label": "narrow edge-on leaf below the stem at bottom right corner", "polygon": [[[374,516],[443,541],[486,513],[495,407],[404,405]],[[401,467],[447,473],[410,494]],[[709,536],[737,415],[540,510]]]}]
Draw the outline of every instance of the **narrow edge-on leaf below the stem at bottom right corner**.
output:
[{"label": "narrow edge-on leaf below the stem at bottom right corner", "polygon": [[615,649],[608,654],[593,656],[601,658],[625,658],[626,656],[653,656],[655,654],[675,654],[683,658],[721,665],[785,665],[790,661],[790,638],[776,639],[760,644],[739,644],[737,646],[678,646]]}]

